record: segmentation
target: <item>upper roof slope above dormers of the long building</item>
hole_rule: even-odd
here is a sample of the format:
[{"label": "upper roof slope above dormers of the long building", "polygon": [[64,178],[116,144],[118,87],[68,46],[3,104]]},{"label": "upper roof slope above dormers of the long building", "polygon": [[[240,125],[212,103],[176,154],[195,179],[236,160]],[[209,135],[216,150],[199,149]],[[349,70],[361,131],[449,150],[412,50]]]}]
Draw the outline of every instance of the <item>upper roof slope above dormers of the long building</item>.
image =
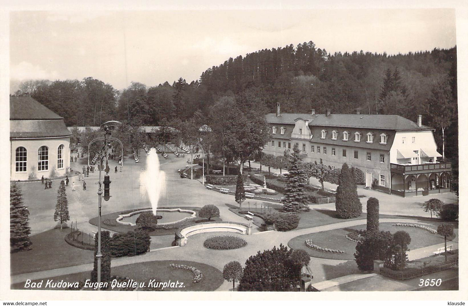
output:
[{"label": "upper roof slope above dormers of the long building", "polygon": [[365,115],[365,114],[266,114],[269,123],[292,123],[297,118],[309,121],[309,126],[372,128],[387,130],[427,130],[425,125],[417,126],[416,122],[399,115]]}]

